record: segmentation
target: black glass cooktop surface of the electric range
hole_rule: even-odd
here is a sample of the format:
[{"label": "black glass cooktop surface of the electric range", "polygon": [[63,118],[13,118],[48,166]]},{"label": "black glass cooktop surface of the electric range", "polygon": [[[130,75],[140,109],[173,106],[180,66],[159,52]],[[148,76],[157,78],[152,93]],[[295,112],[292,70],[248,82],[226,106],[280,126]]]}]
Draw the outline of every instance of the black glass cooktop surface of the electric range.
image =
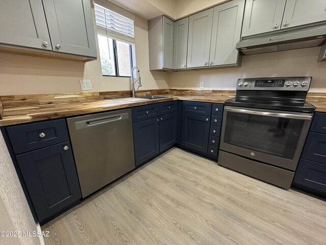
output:
[{"label": "black glass cooktop surface of the electric range", "polygon": [[225,102],[227,106],[269,109],[294,112],[314,112],[315,107],[304,100],[277,100],[264,98],[235,97]]}]

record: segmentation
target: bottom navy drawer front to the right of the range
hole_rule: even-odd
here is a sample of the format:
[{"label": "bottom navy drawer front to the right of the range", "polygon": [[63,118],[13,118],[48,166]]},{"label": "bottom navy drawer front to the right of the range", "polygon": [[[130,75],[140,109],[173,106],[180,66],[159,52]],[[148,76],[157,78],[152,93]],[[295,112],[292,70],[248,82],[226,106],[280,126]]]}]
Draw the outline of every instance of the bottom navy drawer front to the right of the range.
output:
[{"label": "bottom navy drawer front to the right of the range", "polygon": [[301,159],[293,179],[294,187],[326,197],[326,165]]}]

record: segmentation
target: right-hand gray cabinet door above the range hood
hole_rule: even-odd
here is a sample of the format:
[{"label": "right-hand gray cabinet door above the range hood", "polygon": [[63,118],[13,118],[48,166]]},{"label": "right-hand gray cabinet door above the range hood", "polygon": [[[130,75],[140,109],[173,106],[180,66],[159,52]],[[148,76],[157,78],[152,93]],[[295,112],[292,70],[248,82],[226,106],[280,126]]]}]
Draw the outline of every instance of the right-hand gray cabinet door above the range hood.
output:
[{"label": "right-hand gray cabinet door above the range hood", "polygon": [[326,20],[325,0],[287,0],[282,29]]}]

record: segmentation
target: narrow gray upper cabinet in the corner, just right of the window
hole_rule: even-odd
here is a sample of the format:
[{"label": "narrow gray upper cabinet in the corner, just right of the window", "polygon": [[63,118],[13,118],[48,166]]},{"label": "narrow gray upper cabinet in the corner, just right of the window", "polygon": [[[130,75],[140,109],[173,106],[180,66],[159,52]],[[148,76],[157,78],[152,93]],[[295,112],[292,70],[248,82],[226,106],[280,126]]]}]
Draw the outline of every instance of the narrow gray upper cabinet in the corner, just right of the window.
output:
[{"label": "narrow gray upper cabinet in the corner, just right of the window", "polygon": [[148,21],[149,69],[173,69],[174,21],[166,16]]}]

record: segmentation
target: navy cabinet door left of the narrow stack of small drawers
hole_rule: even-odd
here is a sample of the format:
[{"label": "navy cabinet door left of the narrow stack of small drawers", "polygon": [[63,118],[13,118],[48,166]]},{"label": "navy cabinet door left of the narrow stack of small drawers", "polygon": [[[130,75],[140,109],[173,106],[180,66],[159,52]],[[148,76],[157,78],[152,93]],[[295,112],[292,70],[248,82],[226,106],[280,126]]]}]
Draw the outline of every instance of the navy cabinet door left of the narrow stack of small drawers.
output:
[{"label": "navy cabinet door left of the narrow stack of small drawers", "polygon": [[181,145],[207,153],[209,124],[209,116],[183,113]]}]

